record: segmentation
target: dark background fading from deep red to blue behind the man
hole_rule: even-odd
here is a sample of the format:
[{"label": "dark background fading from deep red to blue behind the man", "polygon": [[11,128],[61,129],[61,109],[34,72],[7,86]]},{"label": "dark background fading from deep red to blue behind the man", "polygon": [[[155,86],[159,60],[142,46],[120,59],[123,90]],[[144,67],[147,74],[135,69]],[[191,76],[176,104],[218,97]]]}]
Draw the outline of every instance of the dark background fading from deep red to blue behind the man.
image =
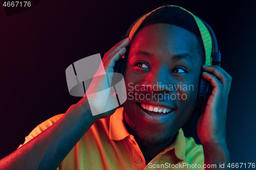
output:
[{"label": "dark background fading from deep red to blue behind the man", "polygon": [[[0,7],[0,158],[17,149],[38,124],[81,99],[68,91],[70,64],[97,53],[103,57],[135,19],[166,3],[189,10],[215,31],[222,67],[233,78],[226,130],[231,162],[256,163],[253,1],[41,0],[8,17]],[[192,132],[199,143],[196,118],[185,135]]]}]

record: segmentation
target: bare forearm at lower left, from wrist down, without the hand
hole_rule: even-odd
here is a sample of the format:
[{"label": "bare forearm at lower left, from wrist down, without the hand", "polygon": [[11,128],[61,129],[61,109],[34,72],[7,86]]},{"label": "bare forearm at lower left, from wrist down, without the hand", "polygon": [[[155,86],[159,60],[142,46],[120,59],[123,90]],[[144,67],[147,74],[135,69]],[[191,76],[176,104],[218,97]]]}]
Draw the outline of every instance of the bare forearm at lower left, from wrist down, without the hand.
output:
[{"label": "bare forearm at lower left, from wrist down, without the hand", "polygon": [[72,105],[55,124],[0,160],[0,169],[56,169],[97,119],[80,106]]}]

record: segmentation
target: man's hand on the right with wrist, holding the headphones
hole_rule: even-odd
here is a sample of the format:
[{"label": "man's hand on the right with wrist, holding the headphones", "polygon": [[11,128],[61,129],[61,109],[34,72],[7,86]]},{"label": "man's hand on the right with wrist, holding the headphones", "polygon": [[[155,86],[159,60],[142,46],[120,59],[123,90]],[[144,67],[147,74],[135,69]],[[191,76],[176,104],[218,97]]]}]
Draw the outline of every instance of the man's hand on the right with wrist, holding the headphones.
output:
[{"label": "man's hand on the right with wrist, holding the headphones", "polygon": [[220,66],[203,66],[203,78],[214,87],[197,123],[202,144],[226,142],[226,114],[232,77]]}]

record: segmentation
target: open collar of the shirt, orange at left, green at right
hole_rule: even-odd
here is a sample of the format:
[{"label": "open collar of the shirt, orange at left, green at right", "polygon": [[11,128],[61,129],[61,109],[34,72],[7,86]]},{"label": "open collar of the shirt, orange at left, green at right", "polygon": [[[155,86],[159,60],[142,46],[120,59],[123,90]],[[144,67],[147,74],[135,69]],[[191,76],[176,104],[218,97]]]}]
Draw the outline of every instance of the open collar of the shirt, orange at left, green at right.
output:
[{"label": "open collar of the shirt, orange at left, green at right", "polygon": [[[125,127],[124,117],[123,117],[123,107],[116,109],[115,113],[110,116],[110,138],[112,140],[122,140],[131,134]],[[175,149],[175,155],[181,159],[185,160],[185,146],[186,140],[182,129],[177,132],[176,139],[172,145],[166,148],[163,152]]]}]

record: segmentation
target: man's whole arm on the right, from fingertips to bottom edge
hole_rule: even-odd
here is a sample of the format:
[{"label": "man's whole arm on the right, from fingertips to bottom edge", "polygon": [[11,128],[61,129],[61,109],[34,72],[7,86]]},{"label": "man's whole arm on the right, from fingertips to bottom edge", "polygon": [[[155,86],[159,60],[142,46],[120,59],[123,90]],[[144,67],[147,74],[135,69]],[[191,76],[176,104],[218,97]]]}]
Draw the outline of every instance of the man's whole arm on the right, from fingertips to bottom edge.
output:
[{"label": "man's whole arm on the right, from fingertips to bottom edge", "polygon": [[[231,76],[220,66],[203,66],[203,78],[210,81],[211,95],[197,124],[198,137],[204,150],[205,169],[229,169],[229,152],[226,143],[226,114]],[[208,72],[208,73],[207,73]],[[225,163],[221,168],[220,164]],[[216,165],[212,167],[210,165]]]}]

